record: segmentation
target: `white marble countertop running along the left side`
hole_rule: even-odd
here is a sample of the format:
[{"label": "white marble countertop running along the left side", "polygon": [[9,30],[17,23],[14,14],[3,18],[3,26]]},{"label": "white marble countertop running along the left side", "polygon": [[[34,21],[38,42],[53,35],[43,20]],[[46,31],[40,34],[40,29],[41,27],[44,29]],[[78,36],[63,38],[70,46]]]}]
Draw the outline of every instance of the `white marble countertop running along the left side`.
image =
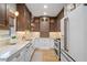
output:
[{"label": "white marble countertop running along the left side", "polygon": [[0,61],[7,61],[28,44],[31,44],[31,41],[20,41],[14,45],[4,45],[0,47]]}]

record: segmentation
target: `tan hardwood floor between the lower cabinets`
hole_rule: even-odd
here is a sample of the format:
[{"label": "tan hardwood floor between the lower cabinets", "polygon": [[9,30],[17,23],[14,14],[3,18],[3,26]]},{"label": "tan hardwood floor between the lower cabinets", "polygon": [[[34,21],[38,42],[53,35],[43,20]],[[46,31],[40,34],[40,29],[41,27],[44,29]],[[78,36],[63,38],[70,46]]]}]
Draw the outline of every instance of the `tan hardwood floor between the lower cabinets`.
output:
[{"label": "tan hardwood floor between the lower cabinets", "polygon": [[53,48],[51,50],[35,50],[31,62],[58,62],[58,56]]}]

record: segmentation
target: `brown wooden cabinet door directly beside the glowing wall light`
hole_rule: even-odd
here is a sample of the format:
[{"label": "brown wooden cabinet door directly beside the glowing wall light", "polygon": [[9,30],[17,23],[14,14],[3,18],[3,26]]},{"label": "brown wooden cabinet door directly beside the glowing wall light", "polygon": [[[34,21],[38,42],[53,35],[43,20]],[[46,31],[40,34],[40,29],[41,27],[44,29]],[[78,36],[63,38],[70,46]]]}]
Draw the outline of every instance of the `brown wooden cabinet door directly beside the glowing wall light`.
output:
[{"label": "brown wooden cabinet door directly beside the glowing wall light", "polygon": [[17,10],[19,11],[18,22],[17,22],[17,30],[23,31],[25,28],[24,25],[24,4],[17,4]]}]

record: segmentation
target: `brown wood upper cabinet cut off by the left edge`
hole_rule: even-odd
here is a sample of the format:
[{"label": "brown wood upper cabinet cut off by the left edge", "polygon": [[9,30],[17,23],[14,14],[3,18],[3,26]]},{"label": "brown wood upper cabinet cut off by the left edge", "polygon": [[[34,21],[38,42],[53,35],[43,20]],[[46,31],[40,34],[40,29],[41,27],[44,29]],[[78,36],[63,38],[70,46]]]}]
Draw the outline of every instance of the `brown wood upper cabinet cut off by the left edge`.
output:
[{"label": "brown wood upper cabinet cut off by the left edge", "polygon": [[0,30],[8,29],[7,4],[0,3]]}]

